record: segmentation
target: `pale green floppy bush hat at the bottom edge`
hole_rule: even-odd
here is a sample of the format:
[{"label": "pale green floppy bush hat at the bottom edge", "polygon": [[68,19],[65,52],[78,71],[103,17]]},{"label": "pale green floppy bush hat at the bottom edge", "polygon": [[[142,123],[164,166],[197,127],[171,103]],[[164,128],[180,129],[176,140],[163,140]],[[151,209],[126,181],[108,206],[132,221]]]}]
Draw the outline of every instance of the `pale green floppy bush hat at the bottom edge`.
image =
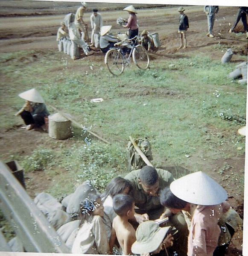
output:
[{"label": "pale green floppy bush hat at the bottom edge", "polygon": [[132,253],[151,253],[157,250],[169,229],[170,227],[159,227],[155,221],[142,222],[136,230]]}]

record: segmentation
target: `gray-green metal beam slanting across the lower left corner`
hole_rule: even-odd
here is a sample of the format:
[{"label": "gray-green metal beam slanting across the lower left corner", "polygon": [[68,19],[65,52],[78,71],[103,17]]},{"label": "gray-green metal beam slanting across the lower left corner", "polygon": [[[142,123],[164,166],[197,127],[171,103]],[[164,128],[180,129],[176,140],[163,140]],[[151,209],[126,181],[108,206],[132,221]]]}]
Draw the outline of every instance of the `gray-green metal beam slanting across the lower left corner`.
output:
[{"label": "gray-green metal beam slanting across the lower left corner", "polygon": [[1,161],[0,208],[27,252],[70,253],[43,213]]}]

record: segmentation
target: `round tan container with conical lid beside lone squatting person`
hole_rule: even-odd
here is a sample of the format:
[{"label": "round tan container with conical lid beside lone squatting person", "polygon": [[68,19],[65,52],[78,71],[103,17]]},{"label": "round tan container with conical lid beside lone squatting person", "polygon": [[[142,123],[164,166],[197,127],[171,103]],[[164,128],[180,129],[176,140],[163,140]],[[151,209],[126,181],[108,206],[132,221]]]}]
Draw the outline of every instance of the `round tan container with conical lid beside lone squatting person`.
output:
[{"label": "round tan container with conical lid beside lone squatting person", "polygon": [[71,135],[71,121],[59,113],[48,116],[49,128],[48,133],[51,138],[62,140],[69,138]]}]

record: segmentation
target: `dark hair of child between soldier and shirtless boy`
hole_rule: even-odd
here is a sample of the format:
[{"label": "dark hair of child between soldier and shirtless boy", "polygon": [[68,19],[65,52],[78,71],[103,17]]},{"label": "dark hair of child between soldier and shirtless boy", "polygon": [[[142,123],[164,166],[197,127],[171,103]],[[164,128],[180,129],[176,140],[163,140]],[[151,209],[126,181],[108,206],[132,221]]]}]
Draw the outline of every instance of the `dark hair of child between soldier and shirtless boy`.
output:
[{"label": "dark hair of child between soldier and shirtless boy", "polygon": [[108,183],[106,190],[101,195],[101,198],[103,201],[108,197],[108,195],[113,198],[117,194],[122,194],[125,188],[129,188],[131,190],[131,182],[122,177],[114,177],[114,179]]}]

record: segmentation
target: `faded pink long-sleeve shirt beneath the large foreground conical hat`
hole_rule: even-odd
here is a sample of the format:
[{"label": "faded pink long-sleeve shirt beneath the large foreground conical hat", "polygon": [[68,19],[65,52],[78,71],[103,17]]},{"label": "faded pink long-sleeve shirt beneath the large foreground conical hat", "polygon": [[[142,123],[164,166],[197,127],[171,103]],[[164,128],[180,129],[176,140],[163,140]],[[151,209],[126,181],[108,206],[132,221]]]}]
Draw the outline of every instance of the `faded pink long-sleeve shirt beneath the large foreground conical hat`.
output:
[{"label": "faded pink long-sleeve shirt beneath the large foreground conical hat", "polygon": [[229,208],[227,202],[196,207],[188,237],[188,256],[213,256],[221,231],[218,221]]}]

